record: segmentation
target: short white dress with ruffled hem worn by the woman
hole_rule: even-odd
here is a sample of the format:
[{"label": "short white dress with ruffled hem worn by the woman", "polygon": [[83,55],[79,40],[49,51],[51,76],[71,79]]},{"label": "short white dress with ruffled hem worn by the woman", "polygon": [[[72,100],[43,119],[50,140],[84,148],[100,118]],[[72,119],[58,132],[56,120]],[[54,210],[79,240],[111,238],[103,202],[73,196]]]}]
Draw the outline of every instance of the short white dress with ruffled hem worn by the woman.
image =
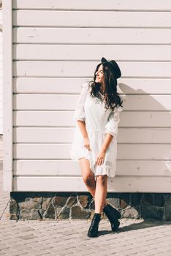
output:
[{"label": "short white dress with ruffled hem worn by the woman", "polygon": [[[122,111],[122,108],[115,108],[114,111],[111,109],[105,110],[104,102],[101,99],[97,97],[92,98],[89,95],[88,82],[83,83],[81,87],[82,90],[73,116],[76,121],[76,127],[70,157],[73,160],[85,157],[90,161],[90,167],[95,176],[107,175],[113,178],[116,167],[119,113]],[[82,120],[86,123],[91,151],[88,151],[83,144],[83,135],[80,132],[77,120]],[[113,139],[107,148],[103,164],[96,165],[96,155],[101,150],[107,133],[113,135]]]}]

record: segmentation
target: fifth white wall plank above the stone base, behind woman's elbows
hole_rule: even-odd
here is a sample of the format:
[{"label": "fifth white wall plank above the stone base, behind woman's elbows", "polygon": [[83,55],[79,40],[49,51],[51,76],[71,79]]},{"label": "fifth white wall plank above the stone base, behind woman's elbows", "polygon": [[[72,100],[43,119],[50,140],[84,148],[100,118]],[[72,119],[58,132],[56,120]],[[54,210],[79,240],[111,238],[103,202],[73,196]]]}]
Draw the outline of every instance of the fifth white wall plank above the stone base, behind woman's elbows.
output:
[{"label": "fifth white wall plank above the stone base, behind woman's elbows", "polygon": [[[14,111],[17,127],[74,127],[73,111]],[[123,111],[119,127],[170,127],[171,112]]]}]

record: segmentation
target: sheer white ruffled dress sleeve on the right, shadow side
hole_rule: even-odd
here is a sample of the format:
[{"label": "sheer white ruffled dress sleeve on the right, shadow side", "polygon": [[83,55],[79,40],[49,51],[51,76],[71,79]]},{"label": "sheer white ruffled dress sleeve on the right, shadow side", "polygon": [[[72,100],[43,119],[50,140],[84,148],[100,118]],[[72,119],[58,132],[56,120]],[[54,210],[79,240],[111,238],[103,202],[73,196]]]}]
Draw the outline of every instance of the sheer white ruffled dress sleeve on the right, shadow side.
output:
[{"label": "sheer white ruffled dress sleeve on the right, shadow side", "polygon": [[115,108],[112,111],[107,119],[107,124],[105,125],[105,133],[109,133],[116,137],[118,135],[118,123],[120,121],[120,112],[122,111],[121,107]]}]

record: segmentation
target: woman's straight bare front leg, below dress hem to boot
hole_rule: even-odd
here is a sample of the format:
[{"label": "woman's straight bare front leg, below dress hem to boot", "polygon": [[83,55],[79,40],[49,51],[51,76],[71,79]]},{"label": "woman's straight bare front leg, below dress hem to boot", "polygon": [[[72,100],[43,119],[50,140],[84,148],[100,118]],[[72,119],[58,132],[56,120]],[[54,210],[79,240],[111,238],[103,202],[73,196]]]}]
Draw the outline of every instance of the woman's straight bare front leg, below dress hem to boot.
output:
[{"label": "woman's straight bare front leg, below dress hem to boot", "polygon": [[107,197],[107,175],[96,176],[95,212],[102,214]]}]

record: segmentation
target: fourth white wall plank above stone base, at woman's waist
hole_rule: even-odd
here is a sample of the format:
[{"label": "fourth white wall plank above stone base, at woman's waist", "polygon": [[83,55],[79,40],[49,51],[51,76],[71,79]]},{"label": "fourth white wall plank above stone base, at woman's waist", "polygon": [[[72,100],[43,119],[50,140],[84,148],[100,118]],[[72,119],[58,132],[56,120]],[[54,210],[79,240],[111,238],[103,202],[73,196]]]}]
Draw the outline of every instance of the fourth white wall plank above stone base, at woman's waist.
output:
[{"label": "fourth white wall plank above stone base, at woman's waist", "polygon": [[[14,128],[15,143],[72,143],[74,127]],[[120,128],[118,143],[171,143],[170,128]]]}]

